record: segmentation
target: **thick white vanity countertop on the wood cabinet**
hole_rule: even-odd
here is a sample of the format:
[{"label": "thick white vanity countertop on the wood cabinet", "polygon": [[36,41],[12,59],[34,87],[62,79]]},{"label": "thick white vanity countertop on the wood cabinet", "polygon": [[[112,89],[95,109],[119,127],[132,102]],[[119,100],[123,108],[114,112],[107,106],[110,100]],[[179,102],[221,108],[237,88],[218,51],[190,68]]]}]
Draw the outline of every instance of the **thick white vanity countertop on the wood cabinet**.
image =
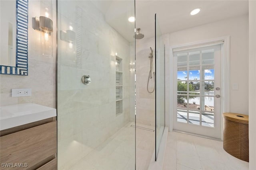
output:
[{"label": "thick white vanity countertop on the wood cabinet", "polygon": [[55,117],[56,115],[56,109],[33,103],[1,106],[0,130]]}]

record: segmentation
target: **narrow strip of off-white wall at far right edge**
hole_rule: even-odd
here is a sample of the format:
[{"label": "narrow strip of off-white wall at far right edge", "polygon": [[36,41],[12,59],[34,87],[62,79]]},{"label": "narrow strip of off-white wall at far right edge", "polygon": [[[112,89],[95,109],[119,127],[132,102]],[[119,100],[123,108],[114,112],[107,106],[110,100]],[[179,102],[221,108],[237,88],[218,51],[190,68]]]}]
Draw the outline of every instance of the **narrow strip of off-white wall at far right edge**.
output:
[{"label": "narrow strip of off-white wall at far right edge", "polygon": [[256,1],[249,1],[249,169],[256,167]]}]

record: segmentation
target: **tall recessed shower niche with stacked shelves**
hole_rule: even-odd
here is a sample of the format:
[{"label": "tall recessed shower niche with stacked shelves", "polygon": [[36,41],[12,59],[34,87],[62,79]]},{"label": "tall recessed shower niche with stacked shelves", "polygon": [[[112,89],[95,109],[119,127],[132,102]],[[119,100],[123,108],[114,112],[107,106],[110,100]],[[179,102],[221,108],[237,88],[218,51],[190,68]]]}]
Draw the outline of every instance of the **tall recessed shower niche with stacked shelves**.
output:
[{"label": "tall recessed shower niche with stacked shelves", "polygon": [[122,59],[116,56],[116,115],[123,113]]}]

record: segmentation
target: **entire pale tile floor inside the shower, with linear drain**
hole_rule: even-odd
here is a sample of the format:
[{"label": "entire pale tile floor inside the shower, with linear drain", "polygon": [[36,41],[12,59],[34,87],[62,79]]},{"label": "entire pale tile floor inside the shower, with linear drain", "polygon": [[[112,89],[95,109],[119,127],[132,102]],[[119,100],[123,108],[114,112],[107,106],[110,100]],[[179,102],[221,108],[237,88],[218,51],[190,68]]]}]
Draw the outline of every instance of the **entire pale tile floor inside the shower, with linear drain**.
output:
[{"label": "entire pale tile floor inside the shower, with linear drain", "polygon": [[[102,145],[78,160],[69,170],[134,170],[135,128],[131,125],[134,123],[130,122],[122,127]],[[147,170],[154,152],[154,132],[137,128],[136,136],[136,170]]]}]

